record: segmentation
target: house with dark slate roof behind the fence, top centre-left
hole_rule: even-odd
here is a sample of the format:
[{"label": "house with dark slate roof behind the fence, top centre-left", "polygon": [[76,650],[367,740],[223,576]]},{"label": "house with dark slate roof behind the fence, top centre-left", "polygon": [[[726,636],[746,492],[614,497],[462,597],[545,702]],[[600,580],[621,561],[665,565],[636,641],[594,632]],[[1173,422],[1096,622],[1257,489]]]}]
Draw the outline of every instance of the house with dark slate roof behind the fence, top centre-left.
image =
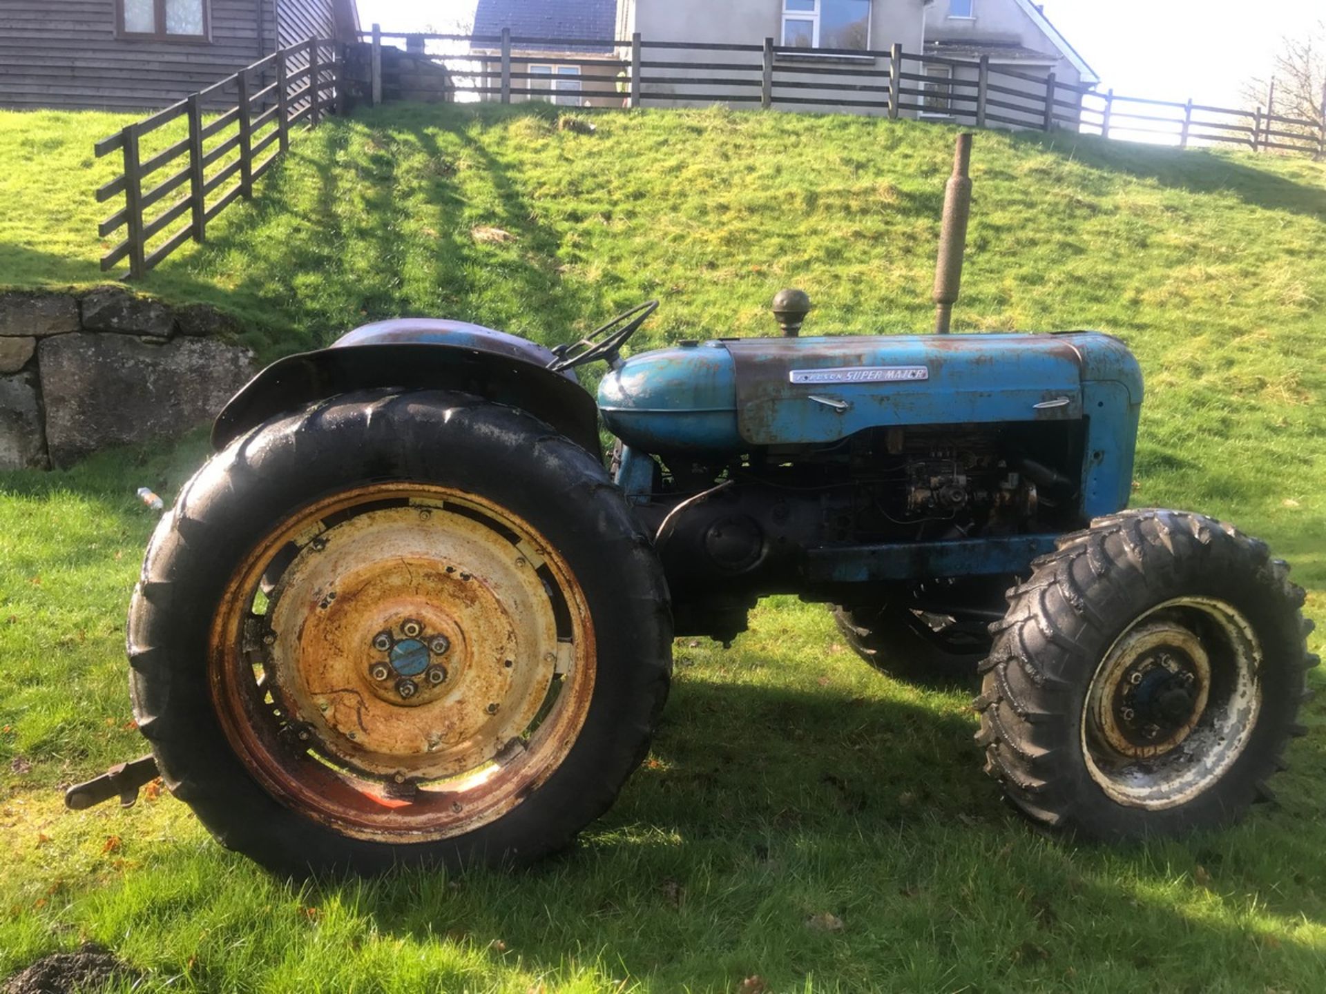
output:
[{"label": "house with dark slate roof behind the fence, top centre-left", "polygon": [[[511,30],[512,102],[619,107],[617,23],[617,0],[479,0],[473,34],[493,38]],[[548,44],[558,38],[566,41]],[[500,99],[500,45],[476,41],[471,50],[483,62],[484,98]]]}]

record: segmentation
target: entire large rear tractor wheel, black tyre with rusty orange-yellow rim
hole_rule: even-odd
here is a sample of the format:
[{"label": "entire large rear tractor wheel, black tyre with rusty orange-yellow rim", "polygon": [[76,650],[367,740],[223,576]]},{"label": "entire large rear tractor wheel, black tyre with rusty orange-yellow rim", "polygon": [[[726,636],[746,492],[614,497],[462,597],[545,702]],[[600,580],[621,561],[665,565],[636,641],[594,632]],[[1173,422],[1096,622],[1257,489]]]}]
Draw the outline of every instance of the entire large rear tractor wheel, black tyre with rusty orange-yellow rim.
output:
[{"label": "entire large rear tractor wheel, black tyre with rusty orange-yellow rim", "polygon": [[643,758],[667,586],[598,459],[444,391],[249,431],[162,520],[129,616],[166,785],[290,875],[524,863]]}]

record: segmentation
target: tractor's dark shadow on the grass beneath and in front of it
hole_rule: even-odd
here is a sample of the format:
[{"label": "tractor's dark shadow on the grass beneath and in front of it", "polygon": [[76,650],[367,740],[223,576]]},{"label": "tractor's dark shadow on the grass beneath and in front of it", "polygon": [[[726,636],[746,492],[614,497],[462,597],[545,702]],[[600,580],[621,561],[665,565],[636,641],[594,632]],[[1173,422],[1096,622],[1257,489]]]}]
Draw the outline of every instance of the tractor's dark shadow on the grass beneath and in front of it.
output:
[{"label": "tractor's dark shadow on the grass beneath and in front of it", "polygon": [[[537,970],[595,950],[644,990],[731,989],[758,964],[724,966],[716,937],[740,936],[752,916],[768,929],[757,945],[786,945],[765,962],[851,986],[851,957],[798,960],[805,920],[823,907],[843,909],[843,941],[867,961],[902,942],[956,964],[976,942],[1033,966],[1054,950],[1067,957],[1059,969],[1082,970],[1098,948],[1082,934],[1106,928],[1118,945],[1106,941],[1099,956],[1127,949],[1131,969],[1147,973],[1176,936],[1207,949],[1246,942],[1237,916],[1195,917],[1183,893],[1156,887],[1175,865],[1203,865],[1242,893],[1270,887],[1272,918],[1323,917],[1315,899],[1299,900],[1303,888],[1274,893],[1311,859],[1313,839],[1268,855],[1284,830],[1256,818],[1211,838],[1124,848],[1048,838],[981,773],[965,694],[880,681],[879,693],[855,694],[841,681],[758,687],[683,667],[650,758],[572,850],[511,872],[324,881],[317,900],[351,903],[407,946],[509,949]],[[967,932],[968,912],[998,917],[1004,930]],[[1154,946],[1134,941],[1151,934]],[[1319,956],[1284,932],[1276,950],[1309,975]]]}]

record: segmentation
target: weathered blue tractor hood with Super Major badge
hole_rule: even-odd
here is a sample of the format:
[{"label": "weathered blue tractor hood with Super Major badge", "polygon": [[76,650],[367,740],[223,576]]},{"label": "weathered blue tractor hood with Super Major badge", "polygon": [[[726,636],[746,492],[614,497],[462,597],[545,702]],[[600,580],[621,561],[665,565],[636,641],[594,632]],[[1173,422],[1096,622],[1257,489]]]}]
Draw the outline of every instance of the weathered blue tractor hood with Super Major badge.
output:
[{"label": "weathered blue tractor hood with Super Major badge", "polygon": [[732,452],[888,425],[1081,419],[1095,382],[1142,402],[1131,353],[1094,331],[748,338],[631,357],[598,400],[629,445]]}]

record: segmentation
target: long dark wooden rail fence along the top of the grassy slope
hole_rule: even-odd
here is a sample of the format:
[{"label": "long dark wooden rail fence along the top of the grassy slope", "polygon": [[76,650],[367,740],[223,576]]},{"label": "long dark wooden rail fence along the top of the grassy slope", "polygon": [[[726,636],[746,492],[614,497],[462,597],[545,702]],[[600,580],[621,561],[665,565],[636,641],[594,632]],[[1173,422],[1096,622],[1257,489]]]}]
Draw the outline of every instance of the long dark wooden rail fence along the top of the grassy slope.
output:
[{"label": "long dark wooden rail fence along the top of the grassy slope", "polygon": [[[1307,152],[1326,158],[1326,114],[1321,121],[1269,110],[1215,107],[1070,83],[980,60],[888,49],[802,49],[762,45],[629,40],[546,38],[513,34],[383,32],[373,44],[374,87],[381,46],[396,44],[443,65],[453,98],[552,99],[591,106],[758,105],[805,110],[853,109],[947,119],[977,127],[1071,129],[1106,138],[1163,140],[1181,148],[1235,143],[1253,151]],[[530,72],[532,66],[545,69]],[[524,68],[521,68],[524,66]],[[558,77],[554,66],[574,68]]]}]

